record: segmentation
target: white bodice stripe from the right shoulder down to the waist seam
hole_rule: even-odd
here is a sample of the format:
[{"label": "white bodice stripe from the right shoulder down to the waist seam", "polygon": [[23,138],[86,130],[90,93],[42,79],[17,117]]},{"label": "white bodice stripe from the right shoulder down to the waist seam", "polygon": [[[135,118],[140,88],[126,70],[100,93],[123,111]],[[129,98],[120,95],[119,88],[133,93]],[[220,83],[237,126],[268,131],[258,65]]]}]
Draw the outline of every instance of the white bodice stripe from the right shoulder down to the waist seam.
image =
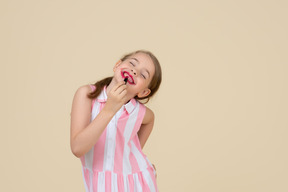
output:
[{"label": "white bodice stripe from the right shoulder down to the waist seam", "polygon": [[137,121],[139,108],[140,108],[139,104],[137,103],[133,113],[129,115],[129,119],[126,123],[125,130],[124,130],[124,138],[125,138],[124,153],[123,153],[123,174],[124,175],[129,174],[132,171],[130,160],[129,160],[130,148],[128,146],[128,142],[130,140],[135,123]]}]

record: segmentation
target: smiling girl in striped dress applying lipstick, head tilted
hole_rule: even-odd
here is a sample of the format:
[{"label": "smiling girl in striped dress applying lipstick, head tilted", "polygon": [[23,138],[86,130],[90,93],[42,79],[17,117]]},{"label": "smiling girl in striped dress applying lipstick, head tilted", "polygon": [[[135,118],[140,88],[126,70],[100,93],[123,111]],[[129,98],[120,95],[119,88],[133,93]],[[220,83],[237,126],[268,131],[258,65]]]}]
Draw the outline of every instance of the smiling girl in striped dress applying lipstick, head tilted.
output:
[{"label": "smiling girl in striped dress applying lipstick, head tilted", "polygon": [[161,67],[148,51],[125,55],[114,76],[80,87],[71,111],[71,150],[82,162],[86,191],[158,191],[156,172],[142,152],[154,114],[140,100],[156,93]]}]

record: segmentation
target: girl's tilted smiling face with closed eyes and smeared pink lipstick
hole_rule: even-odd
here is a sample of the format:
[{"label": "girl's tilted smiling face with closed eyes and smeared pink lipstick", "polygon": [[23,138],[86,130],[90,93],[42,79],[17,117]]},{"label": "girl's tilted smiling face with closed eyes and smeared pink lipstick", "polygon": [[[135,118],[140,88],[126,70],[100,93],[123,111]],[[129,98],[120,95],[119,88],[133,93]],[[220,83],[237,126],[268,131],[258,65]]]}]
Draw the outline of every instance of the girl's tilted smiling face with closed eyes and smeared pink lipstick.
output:
[{"label": "girl's tilted smiling face with closed eyes and smeared pink lipstick", "polygon": [[148,86],[154,73],[153,61],[145,53],[136,53],[114,67],[114,77],[117,81],[124,81],[128,77],[127,91],[133,97],[145,97],[150,94]]}]

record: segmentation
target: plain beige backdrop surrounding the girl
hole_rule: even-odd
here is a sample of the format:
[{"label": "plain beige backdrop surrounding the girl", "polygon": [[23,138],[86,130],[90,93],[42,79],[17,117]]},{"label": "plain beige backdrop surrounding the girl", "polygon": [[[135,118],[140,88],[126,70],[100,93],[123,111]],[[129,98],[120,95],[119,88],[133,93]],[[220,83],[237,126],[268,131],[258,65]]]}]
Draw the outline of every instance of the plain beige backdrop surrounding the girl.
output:
[{"label": "plain beige backdrop surrounding the girl", "polygon": [[0,1],[0,191],[84,191],[76,89],[152,51],[163,84],[144,148],[162,192],[288,191],[288,3]]}]

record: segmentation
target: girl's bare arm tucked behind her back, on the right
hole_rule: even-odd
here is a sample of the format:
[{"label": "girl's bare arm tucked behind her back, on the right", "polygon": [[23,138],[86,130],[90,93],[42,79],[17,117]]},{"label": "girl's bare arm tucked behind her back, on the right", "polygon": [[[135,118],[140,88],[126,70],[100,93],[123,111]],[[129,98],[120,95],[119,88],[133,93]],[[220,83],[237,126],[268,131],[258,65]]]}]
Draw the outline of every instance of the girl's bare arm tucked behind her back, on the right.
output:
[{"label": "girl's bare arm tucked behind her back, on the right", "polygon": [[142,125],[140,127],[140,130],[138,131],[138,137],[142,148],[144,147],[149,135],[152,132],[153,125],[154,125],[154,113],[153,111],[151,111],[151,109],[146,107],[146,113]]}]

